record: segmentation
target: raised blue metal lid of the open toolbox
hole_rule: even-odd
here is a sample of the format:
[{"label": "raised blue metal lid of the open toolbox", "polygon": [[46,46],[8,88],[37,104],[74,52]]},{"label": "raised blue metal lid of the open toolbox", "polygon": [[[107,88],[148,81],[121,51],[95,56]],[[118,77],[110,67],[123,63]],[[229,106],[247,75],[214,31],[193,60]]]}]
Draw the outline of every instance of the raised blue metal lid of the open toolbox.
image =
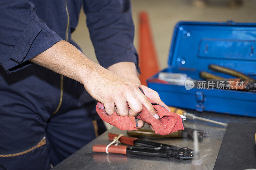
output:
[{"label": "raised blue metal lid of the open toolbox", "polygon": [[174,28],[169,66],[208,70],[217,64],[256,74],[256,23],[178,22]]}]

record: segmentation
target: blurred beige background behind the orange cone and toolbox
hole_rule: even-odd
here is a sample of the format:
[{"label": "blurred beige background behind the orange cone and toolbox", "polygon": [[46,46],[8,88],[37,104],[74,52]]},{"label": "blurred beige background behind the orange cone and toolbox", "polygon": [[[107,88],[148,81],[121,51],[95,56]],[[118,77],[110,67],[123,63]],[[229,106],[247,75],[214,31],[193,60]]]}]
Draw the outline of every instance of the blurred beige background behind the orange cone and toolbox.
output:
[{"label": "blurred beige background behind the orange cone and toolbox", "polygon": [[[173,27],[180,20],[256,22],[256,0],[131,0],[131,3],[135,47],[138,49],[138,13],[147,11],[161,69],[167,66]],[[85,55],[97,62],[85,19],[81,10],[72,38]]]}]

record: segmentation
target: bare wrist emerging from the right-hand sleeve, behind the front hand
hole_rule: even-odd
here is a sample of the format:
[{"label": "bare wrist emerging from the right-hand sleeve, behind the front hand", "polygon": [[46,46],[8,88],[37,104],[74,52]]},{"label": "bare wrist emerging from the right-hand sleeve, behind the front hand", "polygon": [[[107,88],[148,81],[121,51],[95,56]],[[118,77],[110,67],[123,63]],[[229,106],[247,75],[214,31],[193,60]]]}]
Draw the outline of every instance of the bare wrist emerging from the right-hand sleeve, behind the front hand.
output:
[{"label": "bare wrist emerging from the right-hand sleeve, behind the front hand", "polygon": [[108,70],[119,74],[120,76],[133,81],[137,85],[141,85],[138,78],[137,69],[133,62],[119,62],[108,67]]}]

